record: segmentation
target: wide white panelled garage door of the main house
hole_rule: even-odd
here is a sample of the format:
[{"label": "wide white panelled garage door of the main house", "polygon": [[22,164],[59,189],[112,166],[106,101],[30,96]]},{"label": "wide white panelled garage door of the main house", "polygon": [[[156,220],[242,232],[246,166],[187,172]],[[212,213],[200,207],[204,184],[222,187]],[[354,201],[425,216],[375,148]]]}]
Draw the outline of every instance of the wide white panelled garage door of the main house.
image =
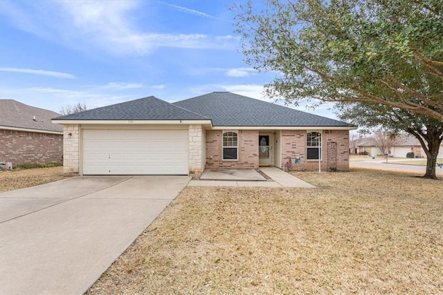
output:
[{"label": "wide white panelled garage door of the main house", "polygon": [[188,174],[187,129],[84,129],[84,175]]}]

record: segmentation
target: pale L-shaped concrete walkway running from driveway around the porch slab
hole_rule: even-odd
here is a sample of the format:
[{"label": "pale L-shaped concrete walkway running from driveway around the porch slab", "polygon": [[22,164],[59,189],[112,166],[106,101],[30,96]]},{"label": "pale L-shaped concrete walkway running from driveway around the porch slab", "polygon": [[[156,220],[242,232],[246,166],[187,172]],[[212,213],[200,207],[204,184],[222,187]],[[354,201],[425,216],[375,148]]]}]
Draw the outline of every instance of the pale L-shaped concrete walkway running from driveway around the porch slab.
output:
[{"label": "pale L-shaped concrete walkway running from driveway around the porch slab", "polygon": [[260,170],[273,181],[235,181],[235,180],[191,180],[190,187],[303,187],[315,188],[277,167],[260,167]]}]

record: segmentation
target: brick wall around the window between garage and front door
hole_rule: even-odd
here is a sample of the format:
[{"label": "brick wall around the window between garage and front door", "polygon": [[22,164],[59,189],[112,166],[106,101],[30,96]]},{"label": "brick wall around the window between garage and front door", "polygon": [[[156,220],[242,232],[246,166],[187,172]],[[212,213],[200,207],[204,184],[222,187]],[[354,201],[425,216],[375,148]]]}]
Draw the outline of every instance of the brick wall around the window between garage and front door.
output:
[{"label": "brick wall around the window between garage and front door", "polygon": [[257,169],[258,168],[258,131],[239,130],[238,160],[223,160],[223,131],[206,131],[206,169]]}]

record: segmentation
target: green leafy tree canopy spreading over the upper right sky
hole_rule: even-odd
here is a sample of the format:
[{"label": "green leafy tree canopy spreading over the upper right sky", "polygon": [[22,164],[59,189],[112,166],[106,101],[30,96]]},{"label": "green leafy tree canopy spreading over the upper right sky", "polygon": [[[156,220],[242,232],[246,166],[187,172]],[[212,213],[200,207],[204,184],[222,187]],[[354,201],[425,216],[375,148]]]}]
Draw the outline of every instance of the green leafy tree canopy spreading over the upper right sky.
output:
[{"label": "green leafy tree canopy spreading over the upper right sky", "polygon": [[[442,0],[235,5],[246,62],[287,102],[362,102],[443,121]],[[364,104],[363,104],[364,106]]]}]

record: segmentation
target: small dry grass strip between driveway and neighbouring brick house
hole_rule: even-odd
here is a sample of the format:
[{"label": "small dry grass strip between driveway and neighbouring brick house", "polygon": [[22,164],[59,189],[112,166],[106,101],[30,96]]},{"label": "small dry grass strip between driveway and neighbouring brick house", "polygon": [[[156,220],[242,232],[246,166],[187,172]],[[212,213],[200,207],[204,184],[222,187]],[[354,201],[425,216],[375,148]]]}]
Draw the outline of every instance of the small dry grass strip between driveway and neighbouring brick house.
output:
[{"label": "small dry grass strip between driveway and neighbouring brick house", "polygon": [[63,178],[63,167],[61,166],[2,171],[0,172],[0,193],[25,187],[34,187],[35,185],[62,180]]}]

